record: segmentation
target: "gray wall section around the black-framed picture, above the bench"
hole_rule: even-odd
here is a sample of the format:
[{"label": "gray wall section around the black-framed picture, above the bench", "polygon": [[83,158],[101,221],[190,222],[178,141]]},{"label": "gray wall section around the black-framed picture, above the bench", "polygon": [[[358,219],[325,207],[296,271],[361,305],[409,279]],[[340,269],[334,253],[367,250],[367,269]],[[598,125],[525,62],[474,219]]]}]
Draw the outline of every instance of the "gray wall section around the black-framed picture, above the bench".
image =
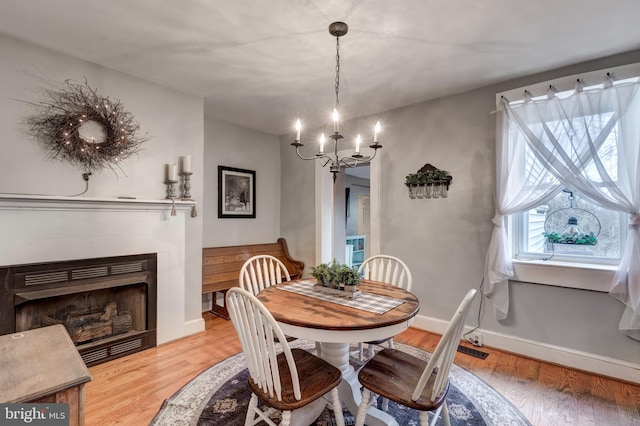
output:
[{"label": "gray wall section around the black-framed picture, above the bench", "polygon": [[[278,138],[223,121],[204,123],[204,247],[275,242],[280,237]],[[256,172],[256,218],[218,218],[218,166]]]}]

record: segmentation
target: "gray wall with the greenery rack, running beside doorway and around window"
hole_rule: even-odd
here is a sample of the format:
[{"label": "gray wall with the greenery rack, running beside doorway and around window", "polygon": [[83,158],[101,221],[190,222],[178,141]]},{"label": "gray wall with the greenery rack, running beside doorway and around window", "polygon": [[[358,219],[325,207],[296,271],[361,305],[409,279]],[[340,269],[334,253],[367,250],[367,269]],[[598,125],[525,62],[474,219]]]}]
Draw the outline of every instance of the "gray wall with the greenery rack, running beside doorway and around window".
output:
[{"label": "gray wall with the greenery rack, running beside doorway and around window", "polygon": [[[402,258],[414,277],[420,314],[448,320],[469,288],[483,277],[491,237],[494,184],[494,115],[498,92],[580,72],[640,62],[640,51],[532,75],[385,113],[382,168],[381,252]],[[296,249],[313,262],[314,169],[293,158],[290,136],[281,137],[283,204],[304,207],[305,216],[283,210],[286,233],[299,235]],[[284,164],[283,160],[283,164]],[[425,163],[453,176],[449,198],[410,200],[405,176]],[[328,170],[326,171],[328,173]],[[295,186],[290,182],[305,182]],[[286,191],[285,191],[286,188]],[[283,230],[284,230],[283,226]],[[638,362],[639,344],[617,330],[623,306],[606,293],[511,282],[511,310],[498,322],[483,303],[481,327],[578,351]],[[468,323],[475,325],[479,303]]]}]

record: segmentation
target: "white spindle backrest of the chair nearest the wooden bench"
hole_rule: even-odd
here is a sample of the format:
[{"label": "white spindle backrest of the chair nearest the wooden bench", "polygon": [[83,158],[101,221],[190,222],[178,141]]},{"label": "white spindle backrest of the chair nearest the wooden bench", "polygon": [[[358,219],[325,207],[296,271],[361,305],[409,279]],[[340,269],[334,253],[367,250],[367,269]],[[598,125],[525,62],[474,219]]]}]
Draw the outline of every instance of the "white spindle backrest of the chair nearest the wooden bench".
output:
[{"label": "white spindle backrest of the chair nearest the wooden bench", "polygon": [[267,287],[291,281],[289,271],[277,257],[261,254],[244,262],[240,268],[240,287],[258,294]]}]

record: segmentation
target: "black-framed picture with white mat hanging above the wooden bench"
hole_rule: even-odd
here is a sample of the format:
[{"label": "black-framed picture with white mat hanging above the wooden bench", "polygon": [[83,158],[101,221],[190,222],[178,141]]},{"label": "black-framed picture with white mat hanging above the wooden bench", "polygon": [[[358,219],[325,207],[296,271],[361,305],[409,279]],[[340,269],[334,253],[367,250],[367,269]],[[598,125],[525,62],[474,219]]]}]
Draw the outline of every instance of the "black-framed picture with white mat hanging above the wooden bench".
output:
[{"label": "black-framed picture with white mat hanging above the wooden bench", "polygon": [[255,219],[255,170],[218,166],[218,217]]}]

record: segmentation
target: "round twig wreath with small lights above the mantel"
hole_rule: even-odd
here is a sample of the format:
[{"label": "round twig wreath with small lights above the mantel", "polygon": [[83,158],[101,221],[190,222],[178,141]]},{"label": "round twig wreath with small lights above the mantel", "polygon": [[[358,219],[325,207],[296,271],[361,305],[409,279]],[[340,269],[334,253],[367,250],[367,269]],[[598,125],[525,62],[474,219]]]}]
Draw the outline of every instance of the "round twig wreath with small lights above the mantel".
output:
[{"label": "round twig wreath with small lights above the mantel", "polygon": [[[98,95],[87,81],[66,80],[59,89],[43,89],[45,100],[26,119],[28,131],[52,159],[67,160],[87,172],[110,168],[149,140],[122,103]],[[120,169],[122,170],[122,169]]]}]

